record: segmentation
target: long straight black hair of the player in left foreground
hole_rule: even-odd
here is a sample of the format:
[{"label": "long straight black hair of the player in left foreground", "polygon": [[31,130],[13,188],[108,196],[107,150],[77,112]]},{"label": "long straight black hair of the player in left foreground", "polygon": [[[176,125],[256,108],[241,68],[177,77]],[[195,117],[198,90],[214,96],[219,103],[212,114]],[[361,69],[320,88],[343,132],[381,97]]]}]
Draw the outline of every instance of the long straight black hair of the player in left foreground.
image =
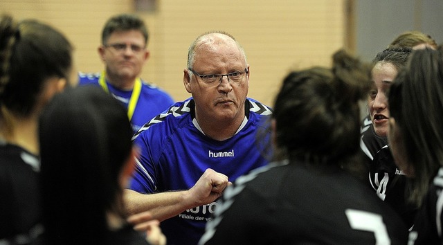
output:
[{"label": "long straight black hair of the player in left foreground", "polygon": [[[51,244],[100,244],[121,217],[118,176],[132,150],[125,108],[98,87],[57,95],[39,120],[42,199]],[[95,242],[95,243],[94,243]]]}]

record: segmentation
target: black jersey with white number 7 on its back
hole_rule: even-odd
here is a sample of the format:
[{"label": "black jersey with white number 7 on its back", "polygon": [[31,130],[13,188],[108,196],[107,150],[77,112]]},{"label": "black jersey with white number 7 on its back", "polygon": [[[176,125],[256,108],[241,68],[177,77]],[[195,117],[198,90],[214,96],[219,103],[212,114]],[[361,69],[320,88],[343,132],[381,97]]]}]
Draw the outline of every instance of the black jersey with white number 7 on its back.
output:
[{"label": "black jersey with white number 7 on its back", "polygon": [[397,212],[344,170],[294,163],[261,171],[225,190],[200,244],[406,244]]}]

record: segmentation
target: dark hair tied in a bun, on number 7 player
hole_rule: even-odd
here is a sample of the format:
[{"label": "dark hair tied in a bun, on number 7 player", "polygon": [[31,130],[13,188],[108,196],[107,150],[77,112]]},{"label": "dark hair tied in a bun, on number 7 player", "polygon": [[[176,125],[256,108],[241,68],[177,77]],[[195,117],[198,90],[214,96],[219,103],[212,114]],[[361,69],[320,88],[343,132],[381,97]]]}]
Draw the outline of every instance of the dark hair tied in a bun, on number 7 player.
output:
[{"label": "dark hair tied in a bun, on number 7 player", "polygon": [[291,162],[345,164],[359,152],[358,101],[370,85],[370,66],[343,50],[332,69],[289,73],[273,107],[278,149]]}]

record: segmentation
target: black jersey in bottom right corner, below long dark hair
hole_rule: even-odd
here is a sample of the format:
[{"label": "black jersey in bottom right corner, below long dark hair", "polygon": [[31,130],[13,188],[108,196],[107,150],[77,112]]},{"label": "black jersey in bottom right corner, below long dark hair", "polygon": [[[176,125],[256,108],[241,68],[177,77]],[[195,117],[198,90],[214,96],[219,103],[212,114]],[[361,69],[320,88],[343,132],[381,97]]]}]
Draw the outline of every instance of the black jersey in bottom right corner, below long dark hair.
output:
[{"label": "black jersey in bottom right corner, below long dark hair", "polygon": [[443,167],[438,171],[417,212],[408,244],[443,244]]}]

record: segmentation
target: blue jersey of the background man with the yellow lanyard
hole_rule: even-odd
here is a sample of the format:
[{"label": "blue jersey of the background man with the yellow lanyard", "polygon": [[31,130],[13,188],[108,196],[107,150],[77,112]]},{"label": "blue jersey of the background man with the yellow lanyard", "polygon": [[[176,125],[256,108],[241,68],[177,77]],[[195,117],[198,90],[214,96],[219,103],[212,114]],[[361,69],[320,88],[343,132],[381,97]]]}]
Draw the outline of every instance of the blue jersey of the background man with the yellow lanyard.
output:
[{"label": "blue jersey of the background man with the yellow lanyard", "polygon": [[[79,73],[80,85],[93,84],[95,86],[100,86],[98,82],[99,79],[100,73]],[[138,96],[134,114],[131,118],[131,126],[134,133],[141,128],[142,125],[145,125],[145,123],[154,118],[154,116],[160,114],[174,104],[174,100],[172,100],[172,97],[168,93],[153,84],[148,84],[145,81],[141,82],[141,93],[140,96]],[[112,86],[109,82],[106,83],[112,96],[128,108],[129,99],[132,96],[132,90],[123,91]]]}]

